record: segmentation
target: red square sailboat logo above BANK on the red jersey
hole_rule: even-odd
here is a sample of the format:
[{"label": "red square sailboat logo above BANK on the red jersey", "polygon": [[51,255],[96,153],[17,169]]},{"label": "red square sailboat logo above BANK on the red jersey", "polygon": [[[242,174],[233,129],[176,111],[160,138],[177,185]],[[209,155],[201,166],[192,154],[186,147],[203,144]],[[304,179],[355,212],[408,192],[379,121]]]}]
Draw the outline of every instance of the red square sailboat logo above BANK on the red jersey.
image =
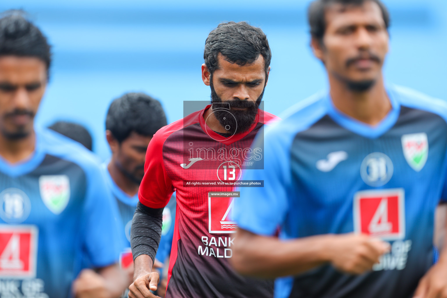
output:
[{"label": "red square sailboat logo above BANK on the red jersey", "polygon": [[208,194],[208,231],[210,233],[236,233],[233,221],[234,198],[210,197]]}]

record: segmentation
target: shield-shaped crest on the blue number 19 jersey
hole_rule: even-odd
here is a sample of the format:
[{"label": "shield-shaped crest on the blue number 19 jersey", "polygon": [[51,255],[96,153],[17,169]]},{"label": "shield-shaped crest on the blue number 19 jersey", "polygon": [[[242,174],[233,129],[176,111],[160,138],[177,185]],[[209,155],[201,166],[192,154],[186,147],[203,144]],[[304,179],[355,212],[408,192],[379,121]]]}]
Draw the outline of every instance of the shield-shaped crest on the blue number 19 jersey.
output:
[{"label": "shield-shaped crest on the blue number 19 jersey", "polygon": [[70,200],[70,180],[67,175],[39,177],[40,196],[45,206],[54,214],[60,214]]}]

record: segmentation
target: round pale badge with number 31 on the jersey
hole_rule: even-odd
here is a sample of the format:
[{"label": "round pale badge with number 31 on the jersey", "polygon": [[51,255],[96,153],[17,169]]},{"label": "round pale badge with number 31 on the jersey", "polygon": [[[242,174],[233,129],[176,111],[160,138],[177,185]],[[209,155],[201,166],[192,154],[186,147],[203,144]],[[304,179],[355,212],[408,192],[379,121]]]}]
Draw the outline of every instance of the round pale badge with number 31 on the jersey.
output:
[{"label": "round pale badge with number 31 on the jersey", "polygon": [[381,153],[374,152],[363,159],[360,166],[360,175],[363,181],[370,186],[382,186],[388,183],[393,173],[391,159]]}]

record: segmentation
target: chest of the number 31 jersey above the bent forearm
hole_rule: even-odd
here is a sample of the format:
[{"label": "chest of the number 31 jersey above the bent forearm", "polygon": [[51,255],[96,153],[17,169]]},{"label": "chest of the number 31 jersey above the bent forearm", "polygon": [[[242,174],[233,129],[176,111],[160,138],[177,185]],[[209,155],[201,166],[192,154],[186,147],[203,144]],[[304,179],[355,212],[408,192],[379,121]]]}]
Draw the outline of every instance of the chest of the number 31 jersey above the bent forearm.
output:
[{"label": "chest of the number 31 jersey above the bent forearm", "polygon": [[289,232],[356,231],[396,240],[418,233],[419,220],[430,230],[443,185],[445,126],[433,114],[402,108],[395,126],[375,139],[327,116],[297,134],[291,152],[297,211],[289,216],[297,224]]}]

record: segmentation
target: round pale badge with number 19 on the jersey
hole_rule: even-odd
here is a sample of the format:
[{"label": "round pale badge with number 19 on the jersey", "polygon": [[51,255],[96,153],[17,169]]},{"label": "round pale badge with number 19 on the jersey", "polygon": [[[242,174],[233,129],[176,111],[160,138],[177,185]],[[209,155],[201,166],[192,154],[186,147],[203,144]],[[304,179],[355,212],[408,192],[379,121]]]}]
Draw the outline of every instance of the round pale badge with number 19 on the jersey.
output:
[{"label": "round pale badge with number 19 on the jersey", "polygon": [[0,218],[8,223],[21,223],[31,212],[31,201],[20,189],[8,188],[0,193]]}]

